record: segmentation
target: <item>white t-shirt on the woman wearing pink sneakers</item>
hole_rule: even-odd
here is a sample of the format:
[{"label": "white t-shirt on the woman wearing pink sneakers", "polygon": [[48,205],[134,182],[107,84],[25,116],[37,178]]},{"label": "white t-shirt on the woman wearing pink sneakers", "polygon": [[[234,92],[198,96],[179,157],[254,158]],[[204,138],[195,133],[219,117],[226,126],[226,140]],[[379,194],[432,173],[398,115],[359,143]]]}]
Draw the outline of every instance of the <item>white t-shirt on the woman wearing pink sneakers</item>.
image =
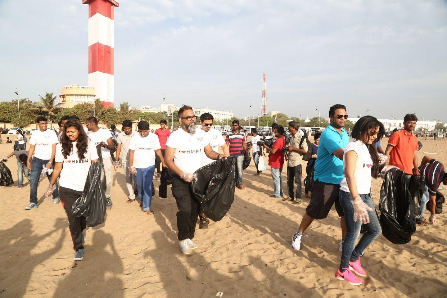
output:
[{"label": "white t-shirt on the woman wearing pink sneakers", "polygon": [[[343,169],[346,169],[346,152],[355,151],[357,153],[357,164],[355,165],[354,180],[357,185],[357,192],[359,194],[367,194],[371,190],[371,167],[372,159],[368,148],[362,141],[354,140],[346,145],[345,153],[343,153]],[[340,189],[350,193],[348,184],[346,183],[346,176],[340,183]]]}]

